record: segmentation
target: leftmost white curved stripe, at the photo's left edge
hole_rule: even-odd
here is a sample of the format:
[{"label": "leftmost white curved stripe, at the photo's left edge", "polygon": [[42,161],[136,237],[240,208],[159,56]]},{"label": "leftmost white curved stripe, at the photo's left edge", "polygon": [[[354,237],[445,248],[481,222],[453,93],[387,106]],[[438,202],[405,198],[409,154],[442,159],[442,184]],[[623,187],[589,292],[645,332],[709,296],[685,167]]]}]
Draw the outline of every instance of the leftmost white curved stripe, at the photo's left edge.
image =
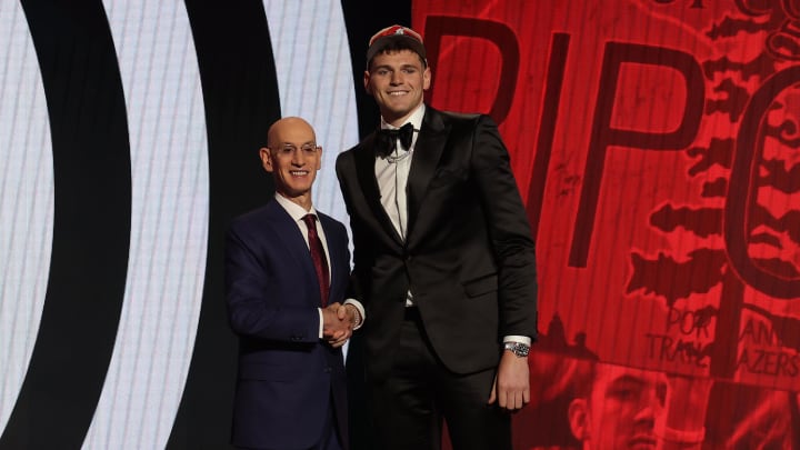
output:
[{"label": "leftmost white curved stripe, at the photo's left edge", "polygon": [[44,88],[19,1],[0,0],[0,430],[33,352],[53,233]]}]

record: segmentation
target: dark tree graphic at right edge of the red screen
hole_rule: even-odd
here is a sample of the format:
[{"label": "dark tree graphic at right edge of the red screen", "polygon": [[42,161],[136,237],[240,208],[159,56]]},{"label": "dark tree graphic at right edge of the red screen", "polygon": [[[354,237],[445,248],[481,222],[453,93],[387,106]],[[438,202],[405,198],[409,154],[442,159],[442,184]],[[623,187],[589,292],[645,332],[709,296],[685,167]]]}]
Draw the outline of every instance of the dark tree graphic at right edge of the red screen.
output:
[{"label": "dark tree graphic at right edge of the red screen", "polygon": [[[708,329],[716,319],[710,344],[662,346],[673,351],[672,358],[710,363],[719,377],[744,371],[793,378],[800,376],[800,320],[770,312],[764,296],[800,298],[800,67],[792,66],[800,59],[800,2],[760,2],[760,9],[756,3],[737,0],[744,18],[726,16],[706,33],[733,50],[702,62],[706,81],[714,83],[703,114],[724,118],[729,127],[718,128],[734,133],[720,132],[708,144],[686,150],[694,160],[688,179],[708,180],[699,192],[702,204],[668,202],[650,214],[656,232],[678,233],[684,246],[701,244],[676,249],[687,256],[680,260],[632,252],[627,293],[654,293],[670,317],[691,313],[683,336]],[[764,32],[759,54],[731,59],[746,54],[740,47],[752,46]],[[712,289],[719,289],[718,306],[677,309],[679,300]]]}]

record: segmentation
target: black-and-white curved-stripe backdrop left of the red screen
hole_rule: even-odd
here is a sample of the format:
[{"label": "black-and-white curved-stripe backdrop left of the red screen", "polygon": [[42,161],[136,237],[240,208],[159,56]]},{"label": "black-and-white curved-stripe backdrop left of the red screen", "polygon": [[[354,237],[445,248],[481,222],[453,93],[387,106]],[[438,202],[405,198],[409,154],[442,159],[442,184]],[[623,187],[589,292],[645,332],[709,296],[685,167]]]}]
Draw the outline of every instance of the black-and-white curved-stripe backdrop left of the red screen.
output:
[{"label": "black-and-white curved-stripe backdrop left of the red screen", "polygon": [[0,156],[19,162],[0,171],[0,448],[227,442],[224,228],[271,196],[258,148],[282,114],[316,126],[314,200],[346,219],[350,3],[0,0]]}]

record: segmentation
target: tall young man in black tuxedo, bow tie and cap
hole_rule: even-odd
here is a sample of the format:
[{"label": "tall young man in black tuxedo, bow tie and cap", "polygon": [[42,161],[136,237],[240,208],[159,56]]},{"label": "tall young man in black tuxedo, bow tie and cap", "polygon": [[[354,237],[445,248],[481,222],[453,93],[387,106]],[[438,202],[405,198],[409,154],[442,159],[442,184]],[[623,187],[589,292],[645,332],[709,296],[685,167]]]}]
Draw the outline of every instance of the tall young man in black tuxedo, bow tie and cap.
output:
[{"label": "tall young man in black tuxedo, bow tie and cap", "polygon": [[[370,40],[364,87],[381,129],[337,160],[354,244],[374,449],[511,449],[537,337],[533,241],[487,116],[438,111],[422,38]],[[354,350],[353,350],[354,351]]]}]

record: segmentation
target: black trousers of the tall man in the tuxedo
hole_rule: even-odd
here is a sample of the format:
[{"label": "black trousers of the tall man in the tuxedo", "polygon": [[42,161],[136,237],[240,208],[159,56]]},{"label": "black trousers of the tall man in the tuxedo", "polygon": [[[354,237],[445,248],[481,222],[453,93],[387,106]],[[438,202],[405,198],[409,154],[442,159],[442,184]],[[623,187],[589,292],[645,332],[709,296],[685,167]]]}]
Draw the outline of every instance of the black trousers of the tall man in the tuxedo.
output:
[{"label": "black trousers of the tall man in the tuxedo", "polygon": [[369,383],[376,448],[441,449],[443,420],[453,450],[511,450],[510,414],[487,404],[497,368],[450,372],[433,352],[417,308],[406,310],[393,358],[391,374]]}]

